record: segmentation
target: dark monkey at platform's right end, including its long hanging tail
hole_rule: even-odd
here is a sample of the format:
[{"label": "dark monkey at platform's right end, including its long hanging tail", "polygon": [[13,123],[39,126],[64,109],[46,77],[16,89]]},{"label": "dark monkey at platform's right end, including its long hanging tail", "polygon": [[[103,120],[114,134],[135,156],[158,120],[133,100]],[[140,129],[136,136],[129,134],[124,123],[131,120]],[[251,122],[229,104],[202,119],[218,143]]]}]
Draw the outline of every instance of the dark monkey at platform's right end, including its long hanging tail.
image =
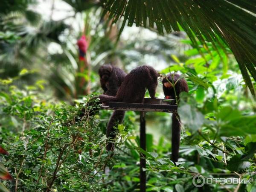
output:
[{"label": "dark monkey at platform's right end, including its long hanging tail", "polygon": [[[189,92],[188,84],[185,79],[180,79],[177,73],[171,73],[163,79],[163,93],[166,99],[180,99],[180,93]],[[174,89],[175,87],[175,89]],[[178,113],[172,114],[172,161],[178,161],[180,148],[180,116]]]}]

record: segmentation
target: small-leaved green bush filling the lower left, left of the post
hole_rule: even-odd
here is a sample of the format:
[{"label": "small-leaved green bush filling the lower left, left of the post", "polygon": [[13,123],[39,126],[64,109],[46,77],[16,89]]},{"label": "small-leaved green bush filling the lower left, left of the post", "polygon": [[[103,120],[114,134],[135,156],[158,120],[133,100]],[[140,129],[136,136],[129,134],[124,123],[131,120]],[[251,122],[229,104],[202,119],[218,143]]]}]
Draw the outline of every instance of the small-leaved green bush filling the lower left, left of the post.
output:
[{"label": "small-leaved green bush filling the lower left, left of the post", "polygon": [[[108,181],[102,181],[102,177],[113,175],[106,176],[104,168],[119,167],[113,166],[114,159],[105,154],[102,122],[89,116],[97,106],[85,108],[84,116],[78,116],[86,106],[84,102],[91,102],[91,96],[76,106],[68,106],[42,98],[37,85],[20,90],[11,84],[13,81],[1,85],[4,91],[0,95],[0,141],[10,153],[3,160],[15,181],[4,181],[6,186],[15,191],[106,190]],[[119,125],[118,129],[117,148],[134,140],[128,134],[129,128]]]}]

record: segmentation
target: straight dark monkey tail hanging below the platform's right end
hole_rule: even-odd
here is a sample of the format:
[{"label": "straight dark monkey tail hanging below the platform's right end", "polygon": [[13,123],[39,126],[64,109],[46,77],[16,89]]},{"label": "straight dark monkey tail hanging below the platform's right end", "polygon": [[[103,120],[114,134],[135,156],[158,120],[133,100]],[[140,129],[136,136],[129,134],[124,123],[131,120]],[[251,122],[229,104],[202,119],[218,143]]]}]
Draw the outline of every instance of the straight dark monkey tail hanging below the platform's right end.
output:
[{"label": "straight dark monkey tail hanging below the platform's right end", "polygon": [[180,126],[180,116],[178,113],[172,113],[172,161],[174,163],[179,158]]}]

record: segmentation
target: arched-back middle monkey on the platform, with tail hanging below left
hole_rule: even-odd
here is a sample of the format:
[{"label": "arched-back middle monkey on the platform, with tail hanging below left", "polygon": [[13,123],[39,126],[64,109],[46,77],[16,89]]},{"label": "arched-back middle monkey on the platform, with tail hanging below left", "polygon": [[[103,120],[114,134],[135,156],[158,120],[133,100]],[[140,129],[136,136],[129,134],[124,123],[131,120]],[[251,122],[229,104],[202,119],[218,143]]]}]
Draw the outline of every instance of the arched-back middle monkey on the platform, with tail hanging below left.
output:
[{"label": "arched-back middle monkey on the platform, with tail hanging below left", "polygon": [[[100,95],[100,101],[108,105],[109,102],[128,102],[128,103],[143,103],[146,88],[149,91],[151,98],[155,98],[157,88],[158,73],[150,66],[137,67],[125,77],[116,96]],[[116,122],[122,122],[125,111],[114,111],[111,120],[108,123],[107,136],[110,140],[114,140],[116,133],[113,127]],[[114,144],[109,142],[107,150],[113,151]]]}]

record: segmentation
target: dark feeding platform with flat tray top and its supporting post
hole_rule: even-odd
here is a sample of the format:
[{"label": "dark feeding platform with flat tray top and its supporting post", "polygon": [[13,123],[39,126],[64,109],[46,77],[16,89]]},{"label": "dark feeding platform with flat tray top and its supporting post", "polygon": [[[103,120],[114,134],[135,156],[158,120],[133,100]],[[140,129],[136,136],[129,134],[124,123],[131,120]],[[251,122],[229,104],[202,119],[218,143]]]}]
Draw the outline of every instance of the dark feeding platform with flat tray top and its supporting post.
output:
[{"label": "dark feeding platform with flat tray top and its supporting post", "polygon": [[[103,110],[140,111],[140,148],[146,151],[146,112],[177,113],[175,99],[151,99],[144,98],[143,103],[110,102],[102,105]],[[145,155],[140,153],[140,192],[146,191],[146,168]]]}]

